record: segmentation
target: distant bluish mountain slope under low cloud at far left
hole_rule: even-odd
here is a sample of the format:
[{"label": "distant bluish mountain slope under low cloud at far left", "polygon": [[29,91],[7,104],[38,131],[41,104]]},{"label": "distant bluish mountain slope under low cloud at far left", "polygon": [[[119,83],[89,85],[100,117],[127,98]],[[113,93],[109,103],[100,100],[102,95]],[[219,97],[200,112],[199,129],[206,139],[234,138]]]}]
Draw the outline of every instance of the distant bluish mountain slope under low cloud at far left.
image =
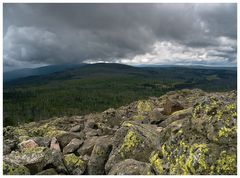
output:
[{"label": "distant bluish mountain slope under low cloud at far left", "polygon": [[8,82],[29,76],[40,76],[84,66],[85,64],[49,65],[38,68],[24,68],[3,73],[3,81]]}]

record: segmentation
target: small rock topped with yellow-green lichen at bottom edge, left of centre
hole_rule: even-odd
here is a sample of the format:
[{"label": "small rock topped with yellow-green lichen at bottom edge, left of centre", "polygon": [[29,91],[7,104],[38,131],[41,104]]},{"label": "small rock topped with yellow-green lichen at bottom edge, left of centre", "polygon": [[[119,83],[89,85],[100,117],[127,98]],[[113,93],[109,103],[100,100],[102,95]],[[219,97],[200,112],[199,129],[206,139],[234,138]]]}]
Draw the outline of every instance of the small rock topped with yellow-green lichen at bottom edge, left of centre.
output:
[{"label": "small rock topped with yellow-green lichen at bottom edge, left of centre", "polygon": [[68,174],[81,175],[86,169],[86,163],[75,154],[64,155],[64,164],[67,168]]}]

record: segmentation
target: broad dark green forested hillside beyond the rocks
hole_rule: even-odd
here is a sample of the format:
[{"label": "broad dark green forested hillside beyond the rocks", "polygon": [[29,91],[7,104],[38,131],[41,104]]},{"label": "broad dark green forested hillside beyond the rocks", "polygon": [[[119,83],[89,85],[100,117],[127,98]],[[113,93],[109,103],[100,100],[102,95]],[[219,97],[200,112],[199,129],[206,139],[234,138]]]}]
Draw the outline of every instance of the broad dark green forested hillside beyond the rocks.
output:
[{"label": "broad dark green forested hillside beyond the rocks", "polygon": [[168,91],[231,91],[237,72],[190,67],[91,64],[4,82],[4,126],[117,108]]}]

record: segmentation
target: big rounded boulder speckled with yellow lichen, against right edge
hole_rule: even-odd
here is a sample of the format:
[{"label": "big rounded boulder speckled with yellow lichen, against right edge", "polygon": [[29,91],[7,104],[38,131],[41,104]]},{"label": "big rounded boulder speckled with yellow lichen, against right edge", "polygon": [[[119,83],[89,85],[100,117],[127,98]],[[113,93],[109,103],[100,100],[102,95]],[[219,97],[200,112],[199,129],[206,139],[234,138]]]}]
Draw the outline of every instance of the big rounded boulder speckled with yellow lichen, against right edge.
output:
[{"label": "big rounded boulder speckled with yellow lichen, against right edge", "polygon": [[220,144],[236,144],[237,101],[234,94],[214,94],[194,107],[193,127],[209,140]]}]

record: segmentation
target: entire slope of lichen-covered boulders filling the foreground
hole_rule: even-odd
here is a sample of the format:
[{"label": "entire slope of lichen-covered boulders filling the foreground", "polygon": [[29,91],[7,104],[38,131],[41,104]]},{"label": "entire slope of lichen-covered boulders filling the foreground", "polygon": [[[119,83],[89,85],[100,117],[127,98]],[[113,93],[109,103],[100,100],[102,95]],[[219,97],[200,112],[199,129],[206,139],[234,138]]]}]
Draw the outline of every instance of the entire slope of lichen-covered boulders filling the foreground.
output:
[{"label": "entire slope of lichen-covered boulders filling the foreground", "polygon": [[12,175],[237,174],[236,91],[180,90],[3,129]]}]

